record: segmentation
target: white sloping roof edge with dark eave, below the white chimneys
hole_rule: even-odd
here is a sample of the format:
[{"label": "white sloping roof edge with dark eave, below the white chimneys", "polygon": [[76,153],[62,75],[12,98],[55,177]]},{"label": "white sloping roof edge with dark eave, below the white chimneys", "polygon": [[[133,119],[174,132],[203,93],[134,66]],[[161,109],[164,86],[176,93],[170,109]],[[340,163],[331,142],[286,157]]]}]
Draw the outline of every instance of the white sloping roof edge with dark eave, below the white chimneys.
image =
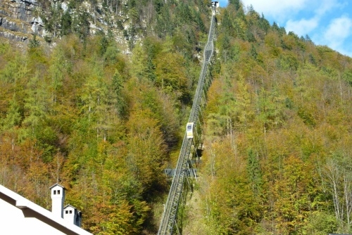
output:
[{"label": "white sloping roof edge with dark eave, below the white chimneys", "polygon": [[[54,185],[55,186],[55,185]],[[71,224],[61,217],[55,216],[49,210],[42,208],[41,206],[29,201],[27,198],[20,196],[18,193],[7,189],[0,184],[0,199],[10,203],[11,205],[19,208],[23,211],[25,217],[35,217],[51,227],[62,231],[64,234],[69,235],[92,235],[88,231],[77,227],[75,224]]]}]

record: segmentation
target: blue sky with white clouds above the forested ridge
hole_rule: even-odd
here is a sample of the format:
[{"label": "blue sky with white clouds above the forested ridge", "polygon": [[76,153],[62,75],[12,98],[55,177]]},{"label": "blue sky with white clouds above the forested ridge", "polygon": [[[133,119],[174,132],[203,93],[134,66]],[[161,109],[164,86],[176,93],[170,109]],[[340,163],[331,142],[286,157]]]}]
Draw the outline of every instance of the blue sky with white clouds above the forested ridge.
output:
[{"label": "blue sky with white clouds above the forested ridge", "polygon": [[[286,32],[306,37],[316,45],[326,45],[352,57],[351,0],[241,0],[263,13],[270,24],[277,23]],[[220,0],[220,6],[227,6]]]}]

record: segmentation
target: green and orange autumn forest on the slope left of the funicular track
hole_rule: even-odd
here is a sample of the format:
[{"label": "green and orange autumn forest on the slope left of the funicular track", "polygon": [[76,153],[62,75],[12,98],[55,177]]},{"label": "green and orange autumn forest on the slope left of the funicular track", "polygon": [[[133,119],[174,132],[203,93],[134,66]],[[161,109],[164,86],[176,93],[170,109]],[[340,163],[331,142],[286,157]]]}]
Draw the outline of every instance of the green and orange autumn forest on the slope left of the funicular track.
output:
[{"label": "green and orange autumn forest on the slope left of the funicular track", "polygon": [[[65,27],[79,1],[45,23],[50,44],[0,43],[0,184],[48,209],[49,186],[62,184],[93,234],[156,233],[209,24],[208,1],[124,2],[138,17],[129,56],[118,31]],[[40,14],[56,12],[44,3]],[[138,31],[151,3],[151,29]]]}]

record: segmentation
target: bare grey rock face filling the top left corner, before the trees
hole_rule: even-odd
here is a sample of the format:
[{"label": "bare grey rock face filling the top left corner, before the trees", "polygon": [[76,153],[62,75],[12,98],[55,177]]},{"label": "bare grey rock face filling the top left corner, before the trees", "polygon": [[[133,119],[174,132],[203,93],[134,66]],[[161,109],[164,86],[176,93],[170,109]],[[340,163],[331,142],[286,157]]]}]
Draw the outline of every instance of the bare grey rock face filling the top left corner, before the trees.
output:
[{"label": "bare grey rock face filling the top left corner, before the trees", "polygon": [[42,20],[35,15],[36,1],[0,1],[0,37],[28,42],[32,35],[44,37]]}]

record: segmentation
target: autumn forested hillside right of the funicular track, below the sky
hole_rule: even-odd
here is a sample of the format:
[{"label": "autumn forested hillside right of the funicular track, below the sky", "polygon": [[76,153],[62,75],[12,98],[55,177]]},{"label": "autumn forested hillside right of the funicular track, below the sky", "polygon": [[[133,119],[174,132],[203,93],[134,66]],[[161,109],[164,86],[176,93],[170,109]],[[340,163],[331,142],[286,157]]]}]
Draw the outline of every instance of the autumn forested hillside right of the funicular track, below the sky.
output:
[{"label": "autumn forested hillside right of the funicular track, below the sky", "polygon": [[351,58],[230,2],[194,233],[351,233]]}]

